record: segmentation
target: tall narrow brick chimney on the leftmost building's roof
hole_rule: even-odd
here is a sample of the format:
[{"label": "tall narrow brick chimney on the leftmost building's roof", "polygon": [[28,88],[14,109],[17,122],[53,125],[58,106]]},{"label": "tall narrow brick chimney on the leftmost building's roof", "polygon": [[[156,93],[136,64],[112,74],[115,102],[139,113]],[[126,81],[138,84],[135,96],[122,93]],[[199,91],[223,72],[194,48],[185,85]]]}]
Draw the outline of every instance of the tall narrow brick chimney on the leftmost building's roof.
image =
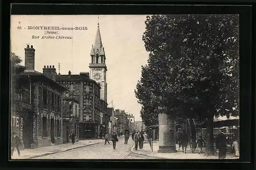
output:
[{"label": "tall narrow brick chimney on the leftmost building's roof", "polygon": [[33,45],[27,45],[27,47],[25,48],[25,69],[35,69],[35,49],[33,48]]}]

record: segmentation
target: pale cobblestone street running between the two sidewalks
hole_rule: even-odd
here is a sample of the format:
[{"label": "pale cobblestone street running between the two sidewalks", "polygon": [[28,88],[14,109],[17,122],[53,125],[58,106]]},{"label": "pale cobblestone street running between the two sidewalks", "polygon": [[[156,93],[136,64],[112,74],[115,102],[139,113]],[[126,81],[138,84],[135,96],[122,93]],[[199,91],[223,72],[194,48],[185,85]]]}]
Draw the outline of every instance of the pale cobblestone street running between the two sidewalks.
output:
[{"label": "pale cobblestone street running between the two sidewalks", "polygon": [[128,144],[124,144],[124,138],[122,137],[116,144],[116,150],[113,150],[112,141],[110,141],[110,144],[107,143],[105,145],[102,140],[99,144],[34,159],[152,159],[147,156],[131,153],[133,145],[134,141],[131,138]]}]

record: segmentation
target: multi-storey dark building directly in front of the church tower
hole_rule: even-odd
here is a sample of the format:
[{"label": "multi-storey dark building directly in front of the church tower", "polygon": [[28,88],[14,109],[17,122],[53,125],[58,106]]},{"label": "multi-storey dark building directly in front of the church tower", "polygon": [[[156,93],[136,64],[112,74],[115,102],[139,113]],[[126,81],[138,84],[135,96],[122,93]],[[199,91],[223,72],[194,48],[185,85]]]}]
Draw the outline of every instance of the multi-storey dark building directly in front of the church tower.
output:
[{"label": "multi-storey dark building directly in front of the church tower", "polygon": [[95,138],[100,125],[100,86],[89,77],[89,72],[79,75],[57,75],[56,81],[69,89],[63,96],[79,102],[79,138]]}]

